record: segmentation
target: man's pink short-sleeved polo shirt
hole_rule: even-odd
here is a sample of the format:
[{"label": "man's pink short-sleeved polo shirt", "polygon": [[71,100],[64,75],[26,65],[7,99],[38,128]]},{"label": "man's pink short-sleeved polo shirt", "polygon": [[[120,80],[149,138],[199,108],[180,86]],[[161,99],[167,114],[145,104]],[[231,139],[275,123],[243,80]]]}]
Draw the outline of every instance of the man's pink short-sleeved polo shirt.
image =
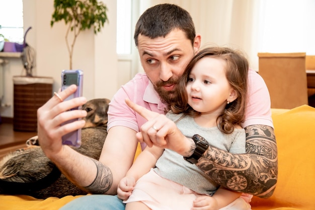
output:
[{"label": "man's pink short-sleeved polo shirt", "polygon": [[[137,74],[131,81],[123,85],[114,95],[108,109],[109,130],[113,126],[126,126],[139,131],[146,120],[130,109],[125,98],[151,111],[164,114],[166,105],[155,92],[152,83],[144,73]],[[249,71],[249,99],[246,109],[246,120],[243,127],[262,124],[273,127],[270,109],[270,96],[267,86],[260,75],[253,69]]]}]

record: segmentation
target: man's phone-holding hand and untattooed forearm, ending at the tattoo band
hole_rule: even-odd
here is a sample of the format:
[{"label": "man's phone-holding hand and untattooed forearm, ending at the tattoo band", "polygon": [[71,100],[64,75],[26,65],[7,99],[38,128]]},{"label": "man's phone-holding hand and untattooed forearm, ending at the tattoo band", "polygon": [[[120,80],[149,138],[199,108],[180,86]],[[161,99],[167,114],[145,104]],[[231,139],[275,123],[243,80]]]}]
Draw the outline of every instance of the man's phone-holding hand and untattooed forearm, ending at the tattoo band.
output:
[{"label": "man's phone-holding hand and untattooed forearm, ending at the tattoo band", "polygon": [[71,85],[59,93],[59,97],[53,96],[42,107],[37,110],[38,139],[45,155],[54,162],[57,167],[78,186],[87,186],[96,176],[96,166],[92,159],[77,153],[68,146],[63,146],[62,135],[82,128],[84,120],[75,120],[70,123],[62,123],[82,118],[87,115],[84,110],[71,110],[87,102],[86,98],[78,97],[68,101],[62,101],[76,90]]}]

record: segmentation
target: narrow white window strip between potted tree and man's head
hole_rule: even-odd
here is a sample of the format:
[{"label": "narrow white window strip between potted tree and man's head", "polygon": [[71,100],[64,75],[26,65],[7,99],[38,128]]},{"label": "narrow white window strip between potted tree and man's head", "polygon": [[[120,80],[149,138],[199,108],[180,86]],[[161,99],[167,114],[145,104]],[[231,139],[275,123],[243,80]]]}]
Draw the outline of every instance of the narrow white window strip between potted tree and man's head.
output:
[{"label": "narrow white window strip between potted tree and man's head", "polygon": [[131,54],[131,0],[117,0],[117,54]]}]

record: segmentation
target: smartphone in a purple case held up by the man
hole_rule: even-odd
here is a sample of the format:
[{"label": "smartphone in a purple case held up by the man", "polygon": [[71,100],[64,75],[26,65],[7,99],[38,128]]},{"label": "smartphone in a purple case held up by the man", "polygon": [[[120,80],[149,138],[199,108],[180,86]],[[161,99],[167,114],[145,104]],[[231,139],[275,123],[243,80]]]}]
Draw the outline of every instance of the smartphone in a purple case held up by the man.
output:
[{"label": "smartphone in a purple case held up by the man", "polygon": [[[64,101],[72,98],[81,97],[83,92],[83,71],[82,70],[63,70],[61,72],[61,91],[65,90],[70,85],[76,85],[76,91],[67,97]],[[81,109],[82,107],[75,107],[71,110]],[[62,124],[74,122],[78,119],[68,120]],[[62,144],[73,147],[81,146],[81,129],[74,130],[62,136]]]}]

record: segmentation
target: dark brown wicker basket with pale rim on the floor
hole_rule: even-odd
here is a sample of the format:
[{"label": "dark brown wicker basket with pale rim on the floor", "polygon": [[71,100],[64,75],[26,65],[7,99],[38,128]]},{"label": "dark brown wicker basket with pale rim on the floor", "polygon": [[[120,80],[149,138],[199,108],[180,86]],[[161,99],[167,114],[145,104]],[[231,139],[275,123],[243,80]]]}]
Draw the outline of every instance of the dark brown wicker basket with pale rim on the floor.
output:
[{"label": "dark brown wicker basket with pale rim on the floor", "polygon": [[37,131],[37,109],[52,97],[53,79],[13,77],[14,118],[16,131]]}]

